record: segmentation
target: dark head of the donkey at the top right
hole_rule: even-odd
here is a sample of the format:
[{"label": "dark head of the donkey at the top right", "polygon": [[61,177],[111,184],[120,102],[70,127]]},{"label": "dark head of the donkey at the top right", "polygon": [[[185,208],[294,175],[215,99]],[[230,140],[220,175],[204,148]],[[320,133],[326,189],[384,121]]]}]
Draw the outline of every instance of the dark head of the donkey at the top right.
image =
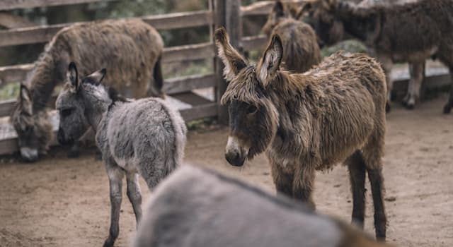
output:
[{"label": "dark head of the donkey at the top right", "polygon": [[307,1],[297,16],[314,28],[323,44],[335,44],[345,35],[343,22],[338,18],[338,5],[341,4],[337,0]]}]

